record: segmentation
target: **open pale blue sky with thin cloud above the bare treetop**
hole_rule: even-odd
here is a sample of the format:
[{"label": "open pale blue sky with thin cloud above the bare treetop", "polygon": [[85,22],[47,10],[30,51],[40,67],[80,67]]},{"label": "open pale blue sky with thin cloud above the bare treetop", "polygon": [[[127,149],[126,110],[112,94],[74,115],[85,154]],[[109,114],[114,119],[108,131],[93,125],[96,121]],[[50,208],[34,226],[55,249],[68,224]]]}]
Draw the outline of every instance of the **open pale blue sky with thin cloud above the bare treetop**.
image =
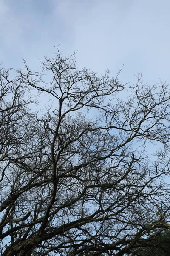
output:
[{"label": "open pale blue sky with thin cloud above the bare treetop", "polygon": [[60,45],[80,66],[170,80],[169,0],[0,0],[0,63],[38,67]]}]

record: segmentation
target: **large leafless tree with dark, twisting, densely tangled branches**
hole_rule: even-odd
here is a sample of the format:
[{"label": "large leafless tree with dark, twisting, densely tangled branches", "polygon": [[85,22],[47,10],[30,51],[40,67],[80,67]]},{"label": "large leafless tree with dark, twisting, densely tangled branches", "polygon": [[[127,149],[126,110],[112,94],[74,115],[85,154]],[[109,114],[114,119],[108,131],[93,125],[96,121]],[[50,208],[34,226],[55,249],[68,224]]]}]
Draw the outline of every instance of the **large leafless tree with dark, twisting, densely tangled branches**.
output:
[{"label": "large leafless tree with dark, twisting, densely tangled branches", "polygon": [[[122,256],[149,247],[169,229],[167,84],[139,76],[122,85],[108,71],[78,70],[58,49],[41,64],[48,84],[26,62],[14,79],[0,70],[1,255]],[[51,107],[34,111],[37,94]]]}]

